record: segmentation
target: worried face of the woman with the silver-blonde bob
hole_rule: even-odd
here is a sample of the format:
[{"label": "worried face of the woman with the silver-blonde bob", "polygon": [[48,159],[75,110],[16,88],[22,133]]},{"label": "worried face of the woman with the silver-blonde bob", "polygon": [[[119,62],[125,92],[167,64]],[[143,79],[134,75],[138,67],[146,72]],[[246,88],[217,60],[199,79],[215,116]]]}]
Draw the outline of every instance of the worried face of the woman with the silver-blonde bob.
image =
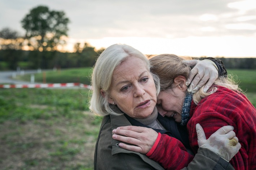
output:
[{"label": "worried face of the woman with the silver-blonde bob", "polygon": [[156,105],[156,88],[146,63],[129,57],[113,72],[109,103],[132,118],[147,118]]}]

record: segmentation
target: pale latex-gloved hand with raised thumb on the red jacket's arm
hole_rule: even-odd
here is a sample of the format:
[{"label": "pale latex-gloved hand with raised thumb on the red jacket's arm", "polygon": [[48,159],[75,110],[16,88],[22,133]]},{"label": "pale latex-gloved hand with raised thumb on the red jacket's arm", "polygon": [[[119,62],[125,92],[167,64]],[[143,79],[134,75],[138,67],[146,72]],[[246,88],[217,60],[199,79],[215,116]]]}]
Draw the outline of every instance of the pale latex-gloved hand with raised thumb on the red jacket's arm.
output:
[{"label": "pale latex-gloved hand with raised thumb on the red jacket's arm", "polygon": [[199,123],[196,124],[196,130],[198,146],[217,153],[226,161],[230,161],[241,148],[241,144],[233,131],[234,128],[230,125],[218,129],[208,139],[206,139],[204,130]]}]

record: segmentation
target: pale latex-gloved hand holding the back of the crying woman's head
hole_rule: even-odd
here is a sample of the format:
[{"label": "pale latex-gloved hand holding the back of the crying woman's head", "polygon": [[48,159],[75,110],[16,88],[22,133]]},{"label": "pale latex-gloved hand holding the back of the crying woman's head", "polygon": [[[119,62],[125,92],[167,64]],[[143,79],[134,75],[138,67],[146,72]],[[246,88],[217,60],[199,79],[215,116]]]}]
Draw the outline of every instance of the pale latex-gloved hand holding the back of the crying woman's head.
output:
[{"label": "pale latex-gloved hand holding the back of the crying woman's head", "polygon": [[212,86],[214,81],[218,78],[219,72],[216,64],[208,59],[205,60],[184,60],[182,61],[189,66],[194,66],[190,71],[189,78],[187,79],[186,86],[188,92],[195,93],[206,84],[203,88],[204,92],[207,92],[209,87]]}]

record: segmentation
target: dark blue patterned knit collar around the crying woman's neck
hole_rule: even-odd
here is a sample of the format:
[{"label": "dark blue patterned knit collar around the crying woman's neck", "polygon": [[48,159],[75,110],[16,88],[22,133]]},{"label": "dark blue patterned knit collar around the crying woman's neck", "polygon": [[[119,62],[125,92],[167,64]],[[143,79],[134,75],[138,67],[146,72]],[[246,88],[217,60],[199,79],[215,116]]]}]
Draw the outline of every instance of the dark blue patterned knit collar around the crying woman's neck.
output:
[{"label": "dark blue patterned knit collar around the crying woman's neck", "polygon": [[189,112],[190,106],[193,99],[193,93],[186,92],[186,97],[182,106],[182,113],[181,113],[181,125],[186,125],[189,121]]}]

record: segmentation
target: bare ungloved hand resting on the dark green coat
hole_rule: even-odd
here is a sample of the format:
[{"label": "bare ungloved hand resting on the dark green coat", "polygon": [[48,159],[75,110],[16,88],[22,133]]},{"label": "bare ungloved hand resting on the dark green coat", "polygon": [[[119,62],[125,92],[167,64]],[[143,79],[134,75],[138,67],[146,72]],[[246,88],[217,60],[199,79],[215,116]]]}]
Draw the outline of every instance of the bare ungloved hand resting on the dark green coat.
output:
[{"label": "bare ungloved hand resting on the dark green coat", "polygon": [[155,130],[137,126],[118,127],[112,132],[114,133],[112,135],[113,139],[136,145],[119,143],[119,147],[144,154],[150,151],[158,137]]}]

